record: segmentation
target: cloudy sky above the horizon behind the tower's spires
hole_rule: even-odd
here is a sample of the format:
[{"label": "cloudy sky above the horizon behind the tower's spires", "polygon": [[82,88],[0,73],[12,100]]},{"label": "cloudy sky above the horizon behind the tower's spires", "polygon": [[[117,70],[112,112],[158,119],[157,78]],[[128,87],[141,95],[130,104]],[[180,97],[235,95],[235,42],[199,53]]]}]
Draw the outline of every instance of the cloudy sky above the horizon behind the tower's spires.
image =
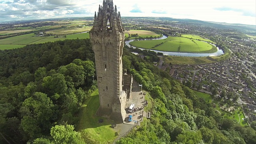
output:
[{"label": "cloudy sky above the horizon behind the tower's spires", "polygon": [[[0,22],[94,16],[103,0],[0,0]],[[121,16],[256,25],[256,0],[113,0]]]}]

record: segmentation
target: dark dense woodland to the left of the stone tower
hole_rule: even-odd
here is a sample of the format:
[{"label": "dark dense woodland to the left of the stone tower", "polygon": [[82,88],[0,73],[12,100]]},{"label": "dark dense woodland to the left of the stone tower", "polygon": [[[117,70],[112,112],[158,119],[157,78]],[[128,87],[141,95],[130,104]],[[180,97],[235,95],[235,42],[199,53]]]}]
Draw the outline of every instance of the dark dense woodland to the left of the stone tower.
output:
[{"label": "dark dense woodland to the left of the stone tower", "polygon": [[[26,143],[36,138],[38,144],[56,143],[58,136],[50,135],[50,131],[62,128],[56,124],[77,123],[78,108],[92,86],[93,61],[89,40],[0,51],[0,143]],[[65,133],[74,127],[62,129]],[[76,136],[79,134],[70,134],[73,139],[66,138],[66,143],[80,144]]]}]

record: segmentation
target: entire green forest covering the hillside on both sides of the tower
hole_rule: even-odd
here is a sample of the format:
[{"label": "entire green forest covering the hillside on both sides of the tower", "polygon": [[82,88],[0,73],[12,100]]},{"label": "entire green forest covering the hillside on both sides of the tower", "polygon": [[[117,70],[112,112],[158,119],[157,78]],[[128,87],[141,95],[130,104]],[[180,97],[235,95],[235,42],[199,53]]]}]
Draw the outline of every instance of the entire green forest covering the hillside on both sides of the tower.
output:
[{"label": "entire green forest covering the hillside on both sides of the tower", "polygon": [[[125,46],[123,68],[143,84],[152,113],[117,144],[255,144],[256,127],[223,118],[192,90]],[[153,59],[150,59],[150,56]],[[1,144],[96,144],[74,131],[78,108],[96,89],[89,39],[0,51]]]}]

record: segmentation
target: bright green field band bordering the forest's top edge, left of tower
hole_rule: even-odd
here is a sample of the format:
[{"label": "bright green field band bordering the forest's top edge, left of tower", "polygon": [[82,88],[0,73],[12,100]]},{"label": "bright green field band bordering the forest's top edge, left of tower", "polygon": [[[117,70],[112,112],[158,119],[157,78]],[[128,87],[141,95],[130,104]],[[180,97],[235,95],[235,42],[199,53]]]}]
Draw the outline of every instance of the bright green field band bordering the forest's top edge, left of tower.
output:
[{"label": "bright green field band bordering the forest's top edge, left of tower", "polygon": [[59,36],[59,38],[54,38],[54,36],[36,36],[35,34],[24,34],[20,36],[14,36],[11,38],[5,38],[0,40],[0,49],[12,49],[12,48],[20,48],[27,44],[40,44],[45,42],[54,42],[57,40],[66,40],[66,39],[83,39],[90,38],[89,33],[83,34],[70,34],[64,36]]}]

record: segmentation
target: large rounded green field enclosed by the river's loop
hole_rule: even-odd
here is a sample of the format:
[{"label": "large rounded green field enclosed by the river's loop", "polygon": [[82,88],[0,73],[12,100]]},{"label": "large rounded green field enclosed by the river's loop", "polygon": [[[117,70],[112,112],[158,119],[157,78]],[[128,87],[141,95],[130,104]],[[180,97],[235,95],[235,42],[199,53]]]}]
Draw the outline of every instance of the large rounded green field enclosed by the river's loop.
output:
[{"label": "large rounded green field enclosed by the river's loop", "polygon": [[151,50],[166,52],[214,53],[217,48],[206,42],[189,38],[169,36],[164,40],[133,41],[130,45]]}]

